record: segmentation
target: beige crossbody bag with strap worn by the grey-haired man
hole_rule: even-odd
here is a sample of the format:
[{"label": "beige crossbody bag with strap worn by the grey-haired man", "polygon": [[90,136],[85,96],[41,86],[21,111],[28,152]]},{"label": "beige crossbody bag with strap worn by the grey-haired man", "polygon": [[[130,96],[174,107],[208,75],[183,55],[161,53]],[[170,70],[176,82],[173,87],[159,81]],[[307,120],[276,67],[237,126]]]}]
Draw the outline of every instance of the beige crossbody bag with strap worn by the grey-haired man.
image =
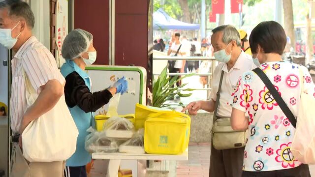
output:
[{"label": "beige crossbody bag with strap worn by the grey-haired man", "polygon": [[246,132],[233,130],[231,127],[230,118],[217,117],[223,75],[224,71],[221,72],[220,84],[215,104],[215,112],[213,115],[212,144],[213,147],[218,150],[242,148],[245,147],[246,144]]}]

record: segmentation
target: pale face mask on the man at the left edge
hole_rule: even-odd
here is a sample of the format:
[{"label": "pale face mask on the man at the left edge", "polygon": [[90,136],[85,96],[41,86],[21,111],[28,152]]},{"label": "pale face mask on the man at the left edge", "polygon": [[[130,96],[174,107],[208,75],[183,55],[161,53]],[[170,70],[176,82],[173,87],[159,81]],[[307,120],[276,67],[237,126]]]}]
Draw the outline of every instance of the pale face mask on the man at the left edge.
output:
[{"label": "pale face mask on the man at the left edge", "polygon": [[[20,22],[19,22],[20,23]],[[12,29],[0,29],[0,44],[2,44],[7,49],[12,49],[12,47],[18,41],[18,37],[21,35],[21,32],[16,38],[12,37],[12,30],[19,25],[17,23]]]}]

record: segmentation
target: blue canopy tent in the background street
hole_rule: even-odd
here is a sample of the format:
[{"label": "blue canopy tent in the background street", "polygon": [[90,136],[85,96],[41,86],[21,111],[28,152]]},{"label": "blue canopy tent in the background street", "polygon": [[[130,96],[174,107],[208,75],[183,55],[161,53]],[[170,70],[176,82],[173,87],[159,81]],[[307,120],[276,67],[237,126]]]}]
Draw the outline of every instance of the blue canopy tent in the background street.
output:
[{"label": "blue canopy tent in the background street", "polygon": [[173,19],[161,8],[159,8],[156,12],[153,13],[154,30],[169,29],[195,30],[199,28],[200,26],[198,24],[189,24]]}]

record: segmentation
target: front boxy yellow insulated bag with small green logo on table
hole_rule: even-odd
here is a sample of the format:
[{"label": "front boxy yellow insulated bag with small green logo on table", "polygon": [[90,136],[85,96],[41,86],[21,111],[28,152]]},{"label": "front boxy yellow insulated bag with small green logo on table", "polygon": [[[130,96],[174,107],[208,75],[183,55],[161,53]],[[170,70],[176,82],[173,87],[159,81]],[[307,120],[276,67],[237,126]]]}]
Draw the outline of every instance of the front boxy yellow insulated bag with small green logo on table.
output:
[{"label": "front boxy yellow insulated bag with small green logo on table", "polygon": [[182,154],[189,135],[189,116],[175,111],[150,114],[145,121],[144,149],[151,154]]}]

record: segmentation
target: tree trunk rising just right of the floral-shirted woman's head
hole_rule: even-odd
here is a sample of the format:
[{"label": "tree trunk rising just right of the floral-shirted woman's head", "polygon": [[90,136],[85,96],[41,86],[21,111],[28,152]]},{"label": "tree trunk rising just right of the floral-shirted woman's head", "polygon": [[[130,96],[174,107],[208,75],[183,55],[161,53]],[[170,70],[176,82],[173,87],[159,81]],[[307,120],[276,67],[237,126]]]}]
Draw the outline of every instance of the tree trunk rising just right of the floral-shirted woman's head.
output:
[{"label": "tree trunk rising just right of the floral-shirted woman's head", "polygon": [[294,24],[293,24],[293,7],[292,0],[283,0],[284,5],[284,30],[287,36],[290,37],[291,45],[295,50],[295,34],[294,34]]}]

